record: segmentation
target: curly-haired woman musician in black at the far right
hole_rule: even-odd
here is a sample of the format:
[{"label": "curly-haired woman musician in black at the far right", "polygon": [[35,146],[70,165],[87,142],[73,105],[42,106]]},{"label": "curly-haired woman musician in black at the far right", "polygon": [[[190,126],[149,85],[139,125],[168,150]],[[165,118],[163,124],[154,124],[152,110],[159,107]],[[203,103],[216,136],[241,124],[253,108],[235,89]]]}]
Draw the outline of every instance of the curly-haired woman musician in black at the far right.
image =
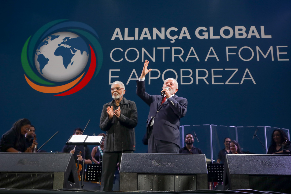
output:
[{"label": "curly-haired woman musician in black at the far right", "polygon": [[287,134],[280,129],[275,129],[271,136],[271,145],[267,154],[290,154],[290,141]]}]

